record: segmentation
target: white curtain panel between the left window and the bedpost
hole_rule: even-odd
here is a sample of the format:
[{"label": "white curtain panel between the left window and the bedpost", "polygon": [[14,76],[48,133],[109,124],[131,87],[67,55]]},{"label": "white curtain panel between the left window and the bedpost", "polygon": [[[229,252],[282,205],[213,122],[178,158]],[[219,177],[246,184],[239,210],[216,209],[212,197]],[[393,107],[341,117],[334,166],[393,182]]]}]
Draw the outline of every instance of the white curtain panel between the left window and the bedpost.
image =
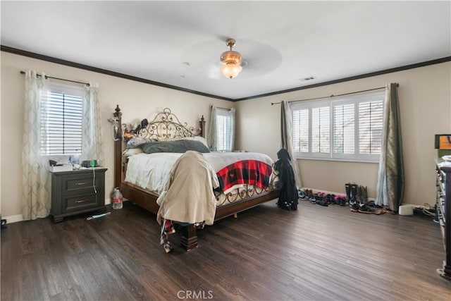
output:
[{"label": "white curtain panel between the left window and the bedpost", "polygon": [[99,105],[99,84],[89,82],[86,85],[85,104],[83,106],[83,141],[81,160],[97,160],[104,163],[104,153],[101,150],[101,117]]}]

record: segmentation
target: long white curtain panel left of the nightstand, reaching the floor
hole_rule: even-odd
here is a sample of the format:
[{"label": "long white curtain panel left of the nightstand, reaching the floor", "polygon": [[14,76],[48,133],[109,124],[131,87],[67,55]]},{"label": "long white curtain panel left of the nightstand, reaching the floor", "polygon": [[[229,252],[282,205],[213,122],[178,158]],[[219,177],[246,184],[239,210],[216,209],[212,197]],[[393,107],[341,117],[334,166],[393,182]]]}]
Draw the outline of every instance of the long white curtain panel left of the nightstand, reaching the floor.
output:
[{"label": "long white curtain panel left of the nightstand, reaching the floor", "polygon": [[25,102],[23,109],[22,146],[22,215],[24,220],[50,214],[50,173],[47,156],[41,156],[41,93],[45,88],[45,74],[25,72]]}]

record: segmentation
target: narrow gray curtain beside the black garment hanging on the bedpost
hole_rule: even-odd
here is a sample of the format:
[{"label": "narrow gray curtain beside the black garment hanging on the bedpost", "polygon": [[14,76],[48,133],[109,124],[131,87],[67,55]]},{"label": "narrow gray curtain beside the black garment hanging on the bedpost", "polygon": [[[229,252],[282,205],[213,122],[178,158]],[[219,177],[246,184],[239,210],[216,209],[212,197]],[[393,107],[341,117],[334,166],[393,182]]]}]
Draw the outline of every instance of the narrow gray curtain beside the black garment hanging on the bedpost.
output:
[{"label": "narrow gray curtain beside the black garment hanging on the bedpost", "polygon": [[299,166],[295,156],[295,149],[293,148],[293,120],[290,103],[283,100],[280,104],[280,137],[282,148],[288,151],[291,158],[291,165],[295,173],[295,180],[297,189],[302,188],[301,174],[299,173]]}]

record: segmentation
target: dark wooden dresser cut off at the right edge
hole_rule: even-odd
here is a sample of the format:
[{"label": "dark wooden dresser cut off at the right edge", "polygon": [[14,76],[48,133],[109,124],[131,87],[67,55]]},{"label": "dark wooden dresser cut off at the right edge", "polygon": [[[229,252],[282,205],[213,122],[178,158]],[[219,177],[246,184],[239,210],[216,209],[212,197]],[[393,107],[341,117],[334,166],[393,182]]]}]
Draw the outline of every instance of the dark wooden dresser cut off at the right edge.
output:
[{"label": "dark wooden dresser cut off at the right edge", "polygon": [[446,255],[443,268],[437,269],[437,271],[443,278],[451,280],[451,166],[440,166],[442,163],[441,159],[435,159],[437,213]]}]

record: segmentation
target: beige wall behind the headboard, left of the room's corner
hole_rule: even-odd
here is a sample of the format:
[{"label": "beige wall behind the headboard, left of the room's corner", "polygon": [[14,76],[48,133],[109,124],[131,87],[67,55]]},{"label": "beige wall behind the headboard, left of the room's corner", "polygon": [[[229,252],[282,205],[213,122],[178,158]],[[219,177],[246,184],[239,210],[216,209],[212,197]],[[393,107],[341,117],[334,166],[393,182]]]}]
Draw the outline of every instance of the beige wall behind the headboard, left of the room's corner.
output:
[{"label": "beige wall behind the headboard, left of the room's corner", "polygon": [[[202,97],[141,82],[124,80],[87,70],[70,68],[55,63],[30,59],[25,56],[1,52],[1,215],[21,214],[21,146],[23,137],[23,83],[20,70],[32,69],[56,78],[81,82],[99,82],[101,126],[106,171],[105,193],[113,189],[113,138],[111,118],[116,104],[123,111],[123,122],[130,123],[148,118],[149,121],[163,108],[170,108],[180,121],[198,125],[200,116],[209,118],[210,106],[233,107],[233,102]],[[9,222],[9,221],[8,221]]]}]

